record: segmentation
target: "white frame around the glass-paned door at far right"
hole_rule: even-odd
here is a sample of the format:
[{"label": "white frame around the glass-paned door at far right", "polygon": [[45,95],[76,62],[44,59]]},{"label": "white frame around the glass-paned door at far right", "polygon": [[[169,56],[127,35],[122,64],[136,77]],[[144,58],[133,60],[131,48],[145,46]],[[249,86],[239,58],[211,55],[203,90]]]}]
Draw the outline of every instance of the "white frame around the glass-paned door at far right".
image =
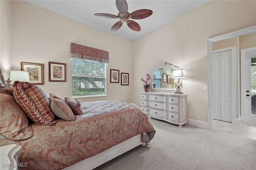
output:
[{"label": "white frame around the glass-paned door at far right", "polygon": [[[249,51],[256,51],[256,47],[241,49],[241,82],[245,82],[245,77],[242,76],[244,74],[244,70],[242,70],[242,66],[244,65],[244,62],[245,62],[246,52],[249,52]],[[244,88],[244,84],[241,83],[241,90],[242,89],[245,89],[245,88]],[[242,96],[242,91],[241,91],[241,96]],[[243,101],[241,97],[241,120],[246,121],[246,113],[244,111],[245,103]]]}]

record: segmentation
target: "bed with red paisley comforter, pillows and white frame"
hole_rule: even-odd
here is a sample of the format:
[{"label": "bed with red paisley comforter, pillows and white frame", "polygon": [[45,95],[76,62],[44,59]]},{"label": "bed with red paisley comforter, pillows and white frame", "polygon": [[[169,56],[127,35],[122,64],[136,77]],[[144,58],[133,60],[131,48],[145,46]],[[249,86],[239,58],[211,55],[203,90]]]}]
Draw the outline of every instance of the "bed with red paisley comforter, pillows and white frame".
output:
[{"label": "bed with red paisley comforter, pillows and white frame", "polygon": [[[49,100],[48,108],[39,109],[41,106],[32,103],[33,95],[26,96],[31,87],[32,91],[44,93],[32,83],[18,81],[14,87],[0,90],[0,146],[21,146],[18,164],[26,166],[18,169],[93,169],[142,143],[151,147],[155,129],[150,123],[149,108],[144,114],[135,104],[109,100],[80,103],[74,98],[60,99],[49,94],[49,97],[42,95]],[[27,103],[33,107],[35,117],[30,117],[17,93],[30,102]],[[40,98],[38,94],[35,97]],[[52,104],[56,103],[58,109],[68,110],[66,114],[55,114]],[[66,110],[62,105],[68,106],[64,106]],[[41,115],[42,110],[49,113],[49,107],[54,118]]]}]

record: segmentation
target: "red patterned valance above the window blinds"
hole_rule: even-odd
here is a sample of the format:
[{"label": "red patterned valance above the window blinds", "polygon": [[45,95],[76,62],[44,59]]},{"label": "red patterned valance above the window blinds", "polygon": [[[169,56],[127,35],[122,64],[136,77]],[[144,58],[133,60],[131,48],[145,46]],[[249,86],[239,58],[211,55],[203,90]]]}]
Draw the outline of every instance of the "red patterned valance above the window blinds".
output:
[{"label": "red patterned valance above the window blinds", "polygon": [[70,43],[70,57],[108,63],[108,51],[94,49],[84,45]]}]

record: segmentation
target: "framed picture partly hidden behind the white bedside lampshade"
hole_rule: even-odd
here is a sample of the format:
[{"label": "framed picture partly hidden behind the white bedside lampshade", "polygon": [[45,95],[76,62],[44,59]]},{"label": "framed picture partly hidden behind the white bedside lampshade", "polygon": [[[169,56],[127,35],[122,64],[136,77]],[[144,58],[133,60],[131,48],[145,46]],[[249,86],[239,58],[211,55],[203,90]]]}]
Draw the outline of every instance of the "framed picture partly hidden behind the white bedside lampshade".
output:
[{"label": "framed picture partly hidden behind the white bedside lampshade", "polygon": [[28,72],[29,82],[44,84],[44,64],[21,62],[21,70]]}]

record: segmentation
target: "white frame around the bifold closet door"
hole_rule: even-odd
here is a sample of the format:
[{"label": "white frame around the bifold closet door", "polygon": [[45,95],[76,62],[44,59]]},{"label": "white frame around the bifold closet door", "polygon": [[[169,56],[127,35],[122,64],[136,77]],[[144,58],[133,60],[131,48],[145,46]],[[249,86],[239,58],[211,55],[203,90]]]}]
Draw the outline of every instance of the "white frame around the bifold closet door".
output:
[{"label": "white frame around the bifold closet door", "polygon": [[[237,77],[237,73],[236,73],[236,46],[226,47],[226,48],[222,48],[222,49],[216,49],[216,50],[213,50],[212,53],[221,53],[221,52],[230,51],[230,50],[231,50],[232,84],[236,84],[236,77]],[[212,74],[211,74],[211,78],[212,78]],[[231,89],[231,104],[232,104],[232,106],[236,106],[236,86],[232,86],[231,88],[232,88]],[[212,88],[210,88],[210,90],[212,90]],[[210,93],[212,95],[212,92],[210,92]],[[231,112],[232,112],[231,113],[232,123],[234,123],[236,121],[236,107],[232,107]]]}]

